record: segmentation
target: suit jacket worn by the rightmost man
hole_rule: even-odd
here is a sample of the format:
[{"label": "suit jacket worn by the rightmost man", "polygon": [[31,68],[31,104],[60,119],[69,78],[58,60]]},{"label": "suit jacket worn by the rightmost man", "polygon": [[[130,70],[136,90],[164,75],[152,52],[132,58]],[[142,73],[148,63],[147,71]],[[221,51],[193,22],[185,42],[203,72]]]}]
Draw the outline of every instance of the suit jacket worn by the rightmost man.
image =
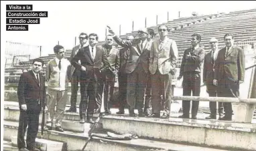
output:
[{"label": "suit jacket worn by the rightmost man", "polygon": [[233,82],[244,81],[245,79],[245,52],[241,47],[233,45],[225,56],[226,47],[218,51],[215,61],[214,79],[221,80],[226,75]]}]

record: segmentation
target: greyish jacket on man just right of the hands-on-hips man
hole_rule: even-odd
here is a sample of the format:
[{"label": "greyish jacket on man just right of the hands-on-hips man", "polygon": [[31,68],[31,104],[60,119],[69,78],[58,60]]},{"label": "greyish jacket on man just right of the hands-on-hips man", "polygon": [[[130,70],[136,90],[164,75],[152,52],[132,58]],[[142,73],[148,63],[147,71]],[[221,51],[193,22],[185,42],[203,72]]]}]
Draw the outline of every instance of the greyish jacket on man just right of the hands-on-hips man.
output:
[{"label": "greyish jacket on man just right of the hands-on-hips man", "polygon": [[[115,45],[112,46],[111,49],[107,48],[107,45],[103,45],[103,51],[106,53],[107,55],[107,60],[109,61],[109,65],[111,67],[111,69],[115,69],[116,71],[118,71],[119,69],[119,59],[117,58],[117,55],[119,53],[119,49],[117,49],[115,47]],[[102,67],[103,67],[103,63],[101,63]],[[114,75],[114,73],[110,70],[107,69],[107,71],[105,72],[106,75]]]}]

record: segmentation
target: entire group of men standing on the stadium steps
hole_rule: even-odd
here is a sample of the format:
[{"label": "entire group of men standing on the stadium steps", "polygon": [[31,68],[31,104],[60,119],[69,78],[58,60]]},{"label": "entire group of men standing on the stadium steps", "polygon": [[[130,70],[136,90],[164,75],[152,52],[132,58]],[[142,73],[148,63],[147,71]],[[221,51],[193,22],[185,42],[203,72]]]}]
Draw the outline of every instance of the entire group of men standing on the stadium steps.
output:
[{"label": "entire group of men standing on the stadium steps", "polygon": [[[46,81],[48,94],[46,102],[45,79],[40,74],[44,61],[34,59],[32,69],[24,72],[19,80],[17,95],[19,98],[19,150],[37,150],[35,139],[38,132],[38,120],[43,106],[46,106],[46,130],[52,130],[55,120],[55,130],[63,132],[61,126],[64,117],[68,82],[71,82],[70,109],[66,112],[76,112],[78,83],[80,84],[80,123],[85,120],[94,123],[93,114],[101,112],[104,92],[105,114],[110,114],[110,104],[113,101],[113,90],[116,77],[119,80],[119,112],[124,114],[125,103],[129,106],[129,116],[150,116],[160,118],[160,111],[165,110],[170,116],[170,107],[174,87],[172,76],[175,75],[178,48],[176,41],[168,38],[168,26],[159,25],[159,39],[152,40],[153,29],[141,29],[138,37],[119,38],[112,29],[106,37],[103,46],[96,45],[99,39],[96,33],[80,33],[80,45],[72,49],[70,60],[64,58],[64,47],[56,45],[56,57],[46,65]],[[121,45],[117,49],[113,41]],[[239,84],[245,75],[245,53],[240,47],[233,45],[233,35],[224,36],[226,47],[218,50],[218,40],[210,39],[211,51],[204,54],[200,47],[201,36],[194,33],[191,45],[184,51],[180,75],[183,77],[183,96],[200,96],[200,73],[203,65],[203,82],[206,84],[209,96],[238,97]],[[149,102],[151,98],[151,102]],[[163,102],[164,100],[164,102]],[[147,109],[152,106],[152,114]],[[196,119],[199,102],[192,102],[192,119]],[[164,108],[163,108],[164,106]],[[55,110],[56,108],[56,110]],[[138,110],[138,115],[134,110]],[[182,116],[190,118],[190,101],[182,101]],[[224,116],[225,111],[225,116]],[[232,120],[231,103],[218,103],[219,120]],[[210,102],[210,116],[216,119],[216,102]],[[27,149],[25,148],[25,128],[27,129]]]}]

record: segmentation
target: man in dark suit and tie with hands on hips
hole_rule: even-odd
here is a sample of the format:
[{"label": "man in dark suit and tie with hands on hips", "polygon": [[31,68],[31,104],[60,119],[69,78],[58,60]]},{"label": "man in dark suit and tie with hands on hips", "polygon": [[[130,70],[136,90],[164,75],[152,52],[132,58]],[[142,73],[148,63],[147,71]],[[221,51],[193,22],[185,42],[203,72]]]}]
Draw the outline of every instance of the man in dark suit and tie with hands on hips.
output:
[{"label": "man in dark suit and tie with hands on hips", "polygon": [[[78,53],[72,59],[72,65],[76,69],[81,70],[80,75],[80,89],[81,89],[81,102],[79,106],[80,123],[84,123],[85,112],[87,109],[87,121],[94,123],[92,115],[95,103],[97,103],[99,110],[101,110],[101,101],[97,99],[98,94],[98,80],[102,78],[102,73],[109,69],[109,61],[107,55],[101,46],[96,46],[98,35],[90,33],[89,45],[79,49]],[[78,63],[78,61],[81,63]],[[101,65],[103,63],[103,66]],[[88,108],[87,108],[88,97]]]}]

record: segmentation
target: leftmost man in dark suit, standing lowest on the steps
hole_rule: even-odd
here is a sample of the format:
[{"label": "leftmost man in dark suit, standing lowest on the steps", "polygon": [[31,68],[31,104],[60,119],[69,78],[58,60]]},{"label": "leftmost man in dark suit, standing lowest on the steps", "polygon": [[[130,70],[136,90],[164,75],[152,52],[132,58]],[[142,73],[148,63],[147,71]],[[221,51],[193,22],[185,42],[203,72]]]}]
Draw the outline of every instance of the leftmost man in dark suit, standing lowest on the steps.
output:
[{"label": "leftmost man in dark suit, standing lowest on the steps", "polygon": [[[46,105],[45,80],[40,71],[44,61],[40,58],[33,60],[32,69],[23,72],[19,78],[17,96],[19,99],[19,128],[17,146],[19,151],[38,151],[36,136],[38,134],[39,115]],[[28,125],[28,128],[27,128]],[[25,148],[25,129],[27,128],[27,149]]]}]

